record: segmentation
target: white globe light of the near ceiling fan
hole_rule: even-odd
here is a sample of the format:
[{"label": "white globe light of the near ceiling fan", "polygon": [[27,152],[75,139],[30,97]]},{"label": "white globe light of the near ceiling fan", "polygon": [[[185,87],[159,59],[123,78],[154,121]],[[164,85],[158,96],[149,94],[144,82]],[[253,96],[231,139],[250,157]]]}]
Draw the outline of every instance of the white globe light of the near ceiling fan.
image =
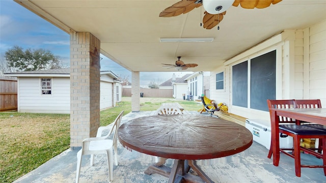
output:
[{"label": "white globe light of the near ceiling fan", "polygon": [[209,14],[219,14],[229,9],[233,3],[230,0],[203,0],[203,7]]}]

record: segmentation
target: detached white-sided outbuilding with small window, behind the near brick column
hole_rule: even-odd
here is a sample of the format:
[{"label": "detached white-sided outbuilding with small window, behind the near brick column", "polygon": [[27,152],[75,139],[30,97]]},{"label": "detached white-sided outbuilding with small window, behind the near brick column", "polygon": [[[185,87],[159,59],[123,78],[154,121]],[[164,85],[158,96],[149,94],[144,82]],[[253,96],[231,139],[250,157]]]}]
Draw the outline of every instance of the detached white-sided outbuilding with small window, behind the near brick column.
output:
[{"label": "detached white-sided outbuilding with small window, behind the near brick column", "polygon": [[[18,112],[70,113],[70,69],[6,73],[17,77]],[[111,71],[101,71],[100,109],[121,101],[121,83]],[[72,83],[73,84],[73,83]]]}]

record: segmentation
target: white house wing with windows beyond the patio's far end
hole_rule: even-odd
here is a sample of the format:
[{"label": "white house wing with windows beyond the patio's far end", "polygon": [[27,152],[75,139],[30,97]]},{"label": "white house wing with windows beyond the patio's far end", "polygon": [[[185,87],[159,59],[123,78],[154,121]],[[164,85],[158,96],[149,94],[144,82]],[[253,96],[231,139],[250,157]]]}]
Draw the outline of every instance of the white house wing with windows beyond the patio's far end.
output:
[{"label": "white house wing with windows beyond the patio's far end", "polygon": [[185,80],[188,83],[188,94],[192,96],[193,100],[200,99],[202,94],[207,98],[210,97],[210,72],[195,72]]}]

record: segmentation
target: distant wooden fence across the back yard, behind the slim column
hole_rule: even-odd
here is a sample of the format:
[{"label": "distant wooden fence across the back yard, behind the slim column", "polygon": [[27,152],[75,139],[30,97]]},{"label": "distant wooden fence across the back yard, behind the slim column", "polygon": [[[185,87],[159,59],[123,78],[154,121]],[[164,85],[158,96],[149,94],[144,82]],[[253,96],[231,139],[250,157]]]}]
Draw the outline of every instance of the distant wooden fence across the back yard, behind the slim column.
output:
[{"label": "distant wooden fence across the back yard, behind the slim column", "polygon": [[[173,98],[173,89],[141,88],[143,97]],[[141,97],[141,94],[139,94]],[[122,97],[131,97],[131,88],[122,88]]]}]

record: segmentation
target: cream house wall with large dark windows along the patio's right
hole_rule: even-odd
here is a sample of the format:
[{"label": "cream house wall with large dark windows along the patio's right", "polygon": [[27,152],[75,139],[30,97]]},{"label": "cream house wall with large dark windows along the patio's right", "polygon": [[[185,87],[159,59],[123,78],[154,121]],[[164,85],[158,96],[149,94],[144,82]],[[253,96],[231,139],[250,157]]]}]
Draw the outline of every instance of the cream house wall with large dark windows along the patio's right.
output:
[{"label": "cream house wall with large dark windows along the patio's right", "polygon": [[326,106],[326,21],[283,31],[211,73],[211,99],[269,121],[267,99],[320,99]]}]

